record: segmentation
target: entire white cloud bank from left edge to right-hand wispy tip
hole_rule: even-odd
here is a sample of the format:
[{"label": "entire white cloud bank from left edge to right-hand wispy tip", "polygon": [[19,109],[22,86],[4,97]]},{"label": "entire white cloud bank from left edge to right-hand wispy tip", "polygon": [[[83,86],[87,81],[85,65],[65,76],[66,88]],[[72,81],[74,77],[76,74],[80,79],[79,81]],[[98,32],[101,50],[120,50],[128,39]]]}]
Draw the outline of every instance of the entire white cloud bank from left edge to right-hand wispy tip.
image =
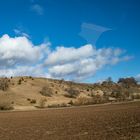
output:
[{"label": "entire white cloud bank from left edge to right-hand wispy tip", "polygon": [[99,48],[91,44],[60,46],[50,50],[50,43],[34,45],[26,36],[0,37],[0,76],[44,76],[83,81],[100,69],[132,57],[119,48]]}]

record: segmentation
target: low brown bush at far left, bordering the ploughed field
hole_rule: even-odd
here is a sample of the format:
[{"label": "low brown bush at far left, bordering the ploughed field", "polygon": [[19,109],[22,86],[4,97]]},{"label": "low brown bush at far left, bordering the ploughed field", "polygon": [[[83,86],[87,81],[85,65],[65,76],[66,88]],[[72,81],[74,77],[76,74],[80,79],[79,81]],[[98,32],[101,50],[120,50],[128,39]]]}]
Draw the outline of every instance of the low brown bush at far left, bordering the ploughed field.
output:
[{"label": "low brown bush at far left, bordering the ploughed field", "polygon": [[12,104],[13,103],[8,101],[0,102],[0,110],[12,110],[14,109]]}]

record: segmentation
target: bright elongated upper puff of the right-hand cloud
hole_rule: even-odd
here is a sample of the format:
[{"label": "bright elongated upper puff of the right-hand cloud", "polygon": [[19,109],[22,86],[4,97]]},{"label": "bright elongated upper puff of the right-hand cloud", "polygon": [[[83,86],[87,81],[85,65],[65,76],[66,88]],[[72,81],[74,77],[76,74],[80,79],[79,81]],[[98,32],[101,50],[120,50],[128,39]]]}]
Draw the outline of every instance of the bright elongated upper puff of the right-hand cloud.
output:
[{"label": "bright elongated upper puff of the right-hand cloud", "polygon": [[76,61],[81,58],[87,58],[92,56],[94,53],[94,48],[92,45],[85,45],[78,49],[74,47],[57,47],[56,51],[49,54],[46,60],[47,65],[62,64],[70,61]]}]

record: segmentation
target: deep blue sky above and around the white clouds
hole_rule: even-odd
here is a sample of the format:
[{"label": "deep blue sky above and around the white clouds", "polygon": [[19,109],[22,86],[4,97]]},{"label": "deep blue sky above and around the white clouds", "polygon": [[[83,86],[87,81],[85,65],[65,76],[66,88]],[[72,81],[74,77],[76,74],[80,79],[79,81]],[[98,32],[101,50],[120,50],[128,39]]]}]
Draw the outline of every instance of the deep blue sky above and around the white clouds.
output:
[{"label": "deep blue sky above and around the white clouds", "polygon": [[[83,24],[98,25],[105,28],[109,28],[106,32],[103,32],[95,41],[95,32],[88,34],[90,38],[93,36],[93,42],[88,40],[88,35],[84,37],[80,34]],[[43,59],[39,61],[36,58],[36,63],[20,64],[21,58],[15,58],[8,56],[9,61],[13,62],[13,65],[0,67],[3,75],[6,75],[7,71],[10,71],[12,75],[19,75],[20,70],[17,71],[17,67],[39,67],[39,65],[45,65],[41,74],[33,74],[35,76],[45,75],[50,77],[60,77],[70,79],[75,75],[79,76],[79,69],[66,72],[65,74],[59,72],[50,72],[54,68],[54,64],[44,64],[48,62],[48,58],[56,53],[58,46],[63,46],[64,53],[67,53],[66,48],[73,48],[77,51],[76,55],[79,55],[77,50],[81,46],[92,44],[96,47],[96,50],[102,48],[121,49],[123,57],[128,57],[126,61],[124,58],[115,65],[109,63],[104,64],[96,70],[93,69],[93,74],[83,74],[84,78],[79,78],[79,81],[93,82],[106,79],[111,76],[114,80],[119,77],[137,76],[140,74],[140,1],[139,0],[1,0],[0,4],[0,37],[7,34],[10,38],[26,37],[27,40],[32,42],[33,48],[40,47],[38,44],[45,44],[46,53]],[[93,33],[93,34],[92,34]],[[87,35],[87,37],[85,37]],[[48,45],[50,42],[51,45]],[[19,45],[20,46],[20,45]],[[48,48],[49,47],[49,48]],[[23,47],[24,48],[24,47]],[[87,49],[90,49],[88,47]],[[0,46],[0,51],[1,51]],[[10,50],[10,49],[9,49]],[[84,50],[84,49],[83,49]],[[70,49],[70,53],[74,50]],[[3,51],[2,51],[3,52]],[[48,52],[48,53],[47,53]],[[59,51],[58,51],[59,52]],[[6,53],[6,52],[3,52]],[[26,54],[26,53],[25,53]],[[30,54],[30,53],[29,53]],[[59,53],[58,53],[59,54]],[[63,53],[60,53],[61,55]],[[73,57],[74,55],[72,55]],[[66,61],[65,64],[71,64],[77,62],[85,55],[80,55],[82,58],[75,58],[74,60]],[[26,55],[26,57],[29,57]],[[59,56],[57,56],[59,57]],[[114,56],[113,56],[114,57]],[[121,56],[122,57],[122,56]],[[89,56],[91,58],[91,56]],[[93,57],[92,57],[93,58]],[[17,59],[17,60],[15,60]],[[38,58],[39,59],[39,58]],[[59,60],[60,58],[58,58]],[[71,59],[71,57],[70,57]],[[7,59],[6,59],[7,60]],[[6,61],[5,60],[5,61]],[[50,59],[49,59],[50,60]],[[61,58],[60,61],[65,61]],[[123,61],[122,61],[123,60]],[[75,62],[76,61],[76,62]],[[4,61],[1,60],[1,65],[4,65]],[[111,63],[111,62],[110,62]],[[94,65],[95,63],[92,63]],[[55,63],[55,69],[58,63]],[[59,66],[62,64],[59,64]],[[66,65],[69,66],[69,65]],[[64,66],[63,66],[64,67]],[[71,67],[70,67],[71,68]],[[33,69],[33,68],[32,68]],[[12,71],[14,70],[14,72]],[[61,68],[63,71],[63,69]],[[34,70],[33,70],[34,71]],[[45,72],[44,72],[45,71]],[[66,71],[66,69],[64,69]],[[91,72],[91,71],[90,71]],[[32,74],[24,70],[21,75]],[[49,74],[48,74],[49,73]],[[76,73],[76,74],[75,74]],[[53,76],[52,76],[53,75]],[[72,75],[72,76],[71,76]],[[81,77],[81,75],[80,75]]]}]

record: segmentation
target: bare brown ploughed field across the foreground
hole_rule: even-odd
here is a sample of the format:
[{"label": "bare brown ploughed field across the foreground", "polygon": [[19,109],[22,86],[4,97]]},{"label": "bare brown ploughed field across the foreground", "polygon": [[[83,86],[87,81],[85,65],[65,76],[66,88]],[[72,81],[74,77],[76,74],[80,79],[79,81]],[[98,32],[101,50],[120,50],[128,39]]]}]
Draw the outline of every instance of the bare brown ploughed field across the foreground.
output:
[{"label": "bare brown ploughed field across the foreground", "polygon": [[0,140],[139,139],[140,102],[0,113]]}]

